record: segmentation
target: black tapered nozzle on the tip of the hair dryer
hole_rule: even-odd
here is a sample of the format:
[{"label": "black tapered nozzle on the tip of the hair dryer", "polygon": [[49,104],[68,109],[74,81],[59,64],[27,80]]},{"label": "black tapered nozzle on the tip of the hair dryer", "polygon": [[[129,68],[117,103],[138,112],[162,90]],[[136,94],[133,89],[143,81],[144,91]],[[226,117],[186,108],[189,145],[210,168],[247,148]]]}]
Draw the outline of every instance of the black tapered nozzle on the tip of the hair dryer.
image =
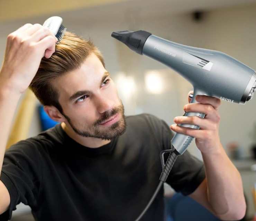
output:
[{"label": "black tapered nozzle on the tip of the hair dryer", "polygon": [[114,31],[112,32],[111,37],[123,42],[131,50],[137,52],[138,54],[142,54],[143,46],[150,35],[151,33],[143,30],[139,30],[139,31],[125,30],[125,31]]}]

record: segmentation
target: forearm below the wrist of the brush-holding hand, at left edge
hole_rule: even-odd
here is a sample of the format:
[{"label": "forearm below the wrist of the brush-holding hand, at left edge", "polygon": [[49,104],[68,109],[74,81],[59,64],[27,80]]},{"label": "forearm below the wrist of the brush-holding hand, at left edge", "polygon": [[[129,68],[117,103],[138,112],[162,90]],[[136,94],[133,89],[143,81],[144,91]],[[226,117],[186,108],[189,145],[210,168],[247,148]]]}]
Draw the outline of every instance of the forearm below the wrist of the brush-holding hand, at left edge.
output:
[{"label": "forearm below the wrist of the brush-holding hand, at left edge", "polygon": [[3,157],[6,149],[11,123],[18,100],[21,94],[12,90],[0,79],[0,172],[2,170]]}]

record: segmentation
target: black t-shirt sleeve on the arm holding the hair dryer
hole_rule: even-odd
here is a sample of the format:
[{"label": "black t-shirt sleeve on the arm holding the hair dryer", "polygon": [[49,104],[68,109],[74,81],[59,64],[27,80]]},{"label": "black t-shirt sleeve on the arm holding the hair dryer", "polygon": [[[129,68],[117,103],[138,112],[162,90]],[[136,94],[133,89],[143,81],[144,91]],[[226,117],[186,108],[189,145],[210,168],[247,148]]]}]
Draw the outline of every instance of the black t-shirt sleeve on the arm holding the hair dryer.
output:
[{"label": "black t-shirt sleeve on the arm holding the hair dryer", "polygon": [[[174,136],[174,132],[172,132],[165,121],[161,121],[163,149],[170,150],[172,149],[171,139]],[[181,192],[183,195],[189,195],[194,192],[205,178],[203,162],[191,155],[188,150],[177,157],[166,180],[166,183],[170,184],[176,192]],[[168,155],[168,153],[165,153],[165,161],[167,160]]]}]

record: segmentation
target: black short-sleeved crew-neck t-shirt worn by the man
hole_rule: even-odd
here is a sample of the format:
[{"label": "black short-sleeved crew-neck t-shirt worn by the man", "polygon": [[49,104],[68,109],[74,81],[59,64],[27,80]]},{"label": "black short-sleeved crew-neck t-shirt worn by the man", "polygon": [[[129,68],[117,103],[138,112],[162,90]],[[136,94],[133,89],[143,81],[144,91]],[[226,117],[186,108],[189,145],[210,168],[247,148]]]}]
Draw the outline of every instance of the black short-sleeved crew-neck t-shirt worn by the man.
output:
[{"label": "black short-sleeved crew-neck t-shirt worn by the man", "polygon": [[[124,134],[99,148],[77,143],[60,124],[10,147],[0,179],[11,203],[0,220],[22,202],[37,221],[134,221],[159,183],[159,153],[171,149],[173,133],[150,114],[126,122]],[[202,161],[186,151],[166,182],[187,195],[204,178]],[[162,187],[141,221],[163,221],[164,214]]]}]

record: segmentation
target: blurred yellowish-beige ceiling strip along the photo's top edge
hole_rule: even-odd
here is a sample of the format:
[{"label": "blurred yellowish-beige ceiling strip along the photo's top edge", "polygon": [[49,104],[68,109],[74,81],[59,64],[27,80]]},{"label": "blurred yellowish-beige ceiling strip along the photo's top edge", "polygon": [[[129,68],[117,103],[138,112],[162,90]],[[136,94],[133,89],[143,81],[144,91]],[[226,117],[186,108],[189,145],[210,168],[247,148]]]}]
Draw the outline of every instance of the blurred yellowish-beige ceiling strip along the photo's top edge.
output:
[{"label": "blurred yellowish-beige ceiling strip along the photo's top edge", "polygon": [[70,19],[116,18],[120,14],[159,16],[256,3],[256,0],[0,0],[0,22],[64,14]]}]

